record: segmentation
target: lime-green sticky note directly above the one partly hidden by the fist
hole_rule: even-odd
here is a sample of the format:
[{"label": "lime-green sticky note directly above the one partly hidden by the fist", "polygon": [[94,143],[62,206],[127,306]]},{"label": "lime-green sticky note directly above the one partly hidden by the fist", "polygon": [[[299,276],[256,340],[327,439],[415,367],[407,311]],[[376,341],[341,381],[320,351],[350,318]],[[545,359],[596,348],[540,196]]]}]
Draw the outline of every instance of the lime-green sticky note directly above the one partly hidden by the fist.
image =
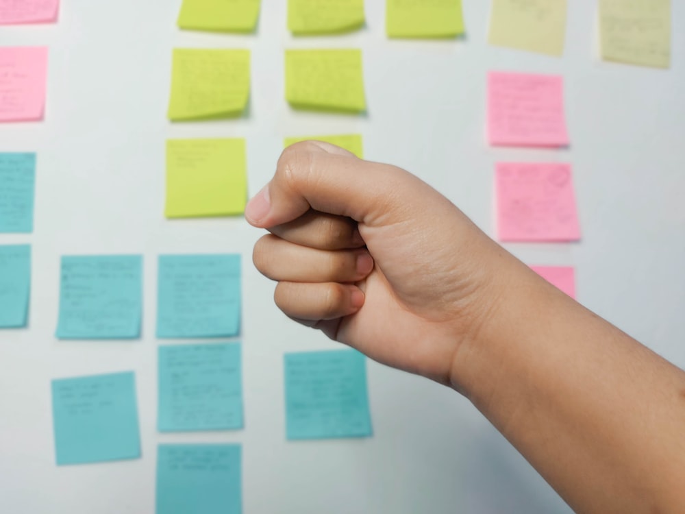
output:
[{"label": "lime-green sticky note directly above the one partly hidden by the fist", "polygon": [[286,99],[298,109],[366,110],[361,50],[286,50]]}]

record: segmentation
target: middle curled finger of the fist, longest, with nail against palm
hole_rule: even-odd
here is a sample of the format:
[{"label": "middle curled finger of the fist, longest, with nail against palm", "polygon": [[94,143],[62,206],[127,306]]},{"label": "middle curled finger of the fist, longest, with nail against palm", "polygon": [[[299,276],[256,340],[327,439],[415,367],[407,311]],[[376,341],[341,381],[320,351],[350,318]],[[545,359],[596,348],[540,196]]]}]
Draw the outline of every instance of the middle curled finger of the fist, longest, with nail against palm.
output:
[{"label": "middle curled finger of the fist, longest, with nail against palm", "polygon": [[257,241],[252,260],[262,275],[288,282],[357,282],[373,269],[373,258],[365,249],[321,250],[273,234]]}]

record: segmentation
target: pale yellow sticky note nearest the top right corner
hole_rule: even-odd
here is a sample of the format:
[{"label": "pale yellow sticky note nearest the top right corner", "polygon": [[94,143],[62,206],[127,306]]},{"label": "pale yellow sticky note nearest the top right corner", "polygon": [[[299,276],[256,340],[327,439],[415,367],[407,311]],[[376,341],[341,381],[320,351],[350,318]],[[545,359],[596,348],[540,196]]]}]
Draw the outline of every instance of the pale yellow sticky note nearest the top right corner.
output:
[{"label": "pale yellow sticky note nearest the top right corner", "polygon": [[599,0],[604,60],[668,68],[671,0]]}]

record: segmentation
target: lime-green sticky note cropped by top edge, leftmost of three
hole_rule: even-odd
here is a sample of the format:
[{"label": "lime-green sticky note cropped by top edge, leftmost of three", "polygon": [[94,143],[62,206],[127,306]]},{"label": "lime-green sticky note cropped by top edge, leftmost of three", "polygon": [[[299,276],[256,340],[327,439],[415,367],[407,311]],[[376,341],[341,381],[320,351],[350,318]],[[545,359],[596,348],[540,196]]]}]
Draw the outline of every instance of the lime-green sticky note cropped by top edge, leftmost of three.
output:
[{"label": "lime-green sticky note cropped by top edge, leftmost of three", "polygon": [[182,29],[253,32],[260,0],[183,0],[177,24]]}]

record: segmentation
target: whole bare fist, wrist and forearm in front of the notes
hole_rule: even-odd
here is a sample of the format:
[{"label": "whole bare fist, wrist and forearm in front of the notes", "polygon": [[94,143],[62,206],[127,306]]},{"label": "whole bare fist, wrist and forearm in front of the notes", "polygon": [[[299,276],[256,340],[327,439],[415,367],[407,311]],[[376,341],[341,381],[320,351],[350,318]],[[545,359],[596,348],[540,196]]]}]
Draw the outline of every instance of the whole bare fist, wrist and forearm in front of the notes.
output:
[{"label": "whole bare fist, wrist and forearm in front of the notes", "polygon": [[575,511],[683,512],[685,373],[414,175],[298,143],[245,216],[286,315],[468,397]]}]

